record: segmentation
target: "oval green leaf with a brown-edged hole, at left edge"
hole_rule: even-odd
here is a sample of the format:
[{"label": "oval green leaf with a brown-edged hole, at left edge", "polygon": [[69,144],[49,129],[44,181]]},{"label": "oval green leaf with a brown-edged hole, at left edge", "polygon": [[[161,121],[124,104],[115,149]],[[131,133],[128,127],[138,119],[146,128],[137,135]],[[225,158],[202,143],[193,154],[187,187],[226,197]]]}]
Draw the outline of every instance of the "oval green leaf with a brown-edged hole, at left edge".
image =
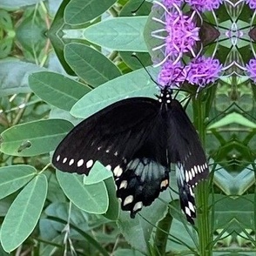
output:
[{"label": "oval green leaf with a brown-edged hole, at left edge", "polygon": [[62,119],[12,126],[1,134],[0,150],[8,155],[26,157],[51,152],[72,127],[70,122]]}]

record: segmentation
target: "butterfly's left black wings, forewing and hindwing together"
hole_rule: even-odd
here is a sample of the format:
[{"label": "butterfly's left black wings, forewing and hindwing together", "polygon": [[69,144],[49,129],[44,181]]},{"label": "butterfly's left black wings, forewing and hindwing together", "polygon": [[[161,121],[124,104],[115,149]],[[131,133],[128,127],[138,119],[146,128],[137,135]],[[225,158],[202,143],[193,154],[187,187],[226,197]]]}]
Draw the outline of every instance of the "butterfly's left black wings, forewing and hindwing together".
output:
[{"label": "butterfly's left black wings, forewing and hindwing together", "polygon": [[114,174],[121,207],[134,218],[169,184],[166,129],[160,104],[128,98],[85,119],[64,138],[52,163],[64,172],[88,175],[95,161]]}]

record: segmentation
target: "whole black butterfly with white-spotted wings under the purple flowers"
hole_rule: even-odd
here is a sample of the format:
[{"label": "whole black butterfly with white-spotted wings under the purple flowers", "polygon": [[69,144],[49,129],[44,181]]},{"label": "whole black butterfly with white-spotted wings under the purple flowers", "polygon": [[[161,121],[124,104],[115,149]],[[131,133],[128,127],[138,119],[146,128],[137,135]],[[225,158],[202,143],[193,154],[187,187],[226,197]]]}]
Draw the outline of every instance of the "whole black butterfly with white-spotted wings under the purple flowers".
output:
[{"label": "whole black butterfly with white-spotted wings under the purple flowers", "polygon": [[123,99],[85,119],[57,146],[52,163],[88,175],[96,160],[113,172],[121,208],[131,218],[168,187],[171,163],[177,164],[181,209],[193,224],[193,187],[208,166],[197,131],[168,87],[158,100]]}]

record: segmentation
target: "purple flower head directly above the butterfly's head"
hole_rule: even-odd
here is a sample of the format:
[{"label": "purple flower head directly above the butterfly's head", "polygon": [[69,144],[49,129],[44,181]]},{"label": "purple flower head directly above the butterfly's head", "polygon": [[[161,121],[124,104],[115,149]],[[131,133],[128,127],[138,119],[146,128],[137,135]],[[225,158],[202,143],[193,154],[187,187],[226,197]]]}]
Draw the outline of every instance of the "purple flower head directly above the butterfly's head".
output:
[{"label": "purple flower head directly above the butterfly's head", "polygon": [[160,87],[179,87],[184,83],[185,77],[185,69],[180,63],[173,64],[172,61],[166,61],[158,74],[158,84]]}]

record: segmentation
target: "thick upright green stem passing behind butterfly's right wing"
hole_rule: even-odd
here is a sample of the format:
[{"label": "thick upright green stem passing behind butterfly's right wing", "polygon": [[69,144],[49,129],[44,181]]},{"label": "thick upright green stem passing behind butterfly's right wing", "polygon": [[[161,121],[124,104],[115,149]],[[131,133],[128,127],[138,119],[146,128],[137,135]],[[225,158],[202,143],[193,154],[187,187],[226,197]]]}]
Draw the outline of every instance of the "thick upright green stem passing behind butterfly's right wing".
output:
[{"label": "thick upright green stem passing behind butterfly's right wing", "polygon": [[[199,131],[199,137],[202,145],[205,145],[205,102],[202,101],[202,95],[198,95],[198,98],[192,99],[194,125]],[[197,204],[197,226],[199,235],[199,255],[211,256],[211,230],[209,222],[209,186],[207,180],[199,182],[196,188],[196,204]]]}]

